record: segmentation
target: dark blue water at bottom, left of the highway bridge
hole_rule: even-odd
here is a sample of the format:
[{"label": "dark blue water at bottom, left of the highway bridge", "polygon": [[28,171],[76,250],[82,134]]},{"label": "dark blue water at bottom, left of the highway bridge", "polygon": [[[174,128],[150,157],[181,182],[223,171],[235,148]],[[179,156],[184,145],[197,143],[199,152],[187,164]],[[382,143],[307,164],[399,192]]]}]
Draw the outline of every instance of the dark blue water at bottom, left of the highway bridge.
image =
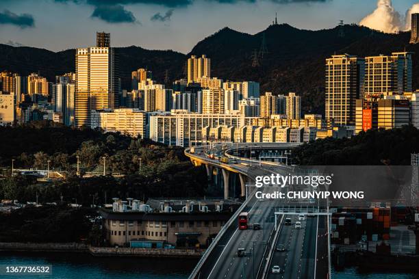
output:
[{"label": "dark blue water at bottom, left of the highway bridge", "polygon": [[0,265],[52,265],[52,275],[2,276],[1,279],[184,279],[197,259],[172,258],[98,258],[75,253],[0,254]]}]

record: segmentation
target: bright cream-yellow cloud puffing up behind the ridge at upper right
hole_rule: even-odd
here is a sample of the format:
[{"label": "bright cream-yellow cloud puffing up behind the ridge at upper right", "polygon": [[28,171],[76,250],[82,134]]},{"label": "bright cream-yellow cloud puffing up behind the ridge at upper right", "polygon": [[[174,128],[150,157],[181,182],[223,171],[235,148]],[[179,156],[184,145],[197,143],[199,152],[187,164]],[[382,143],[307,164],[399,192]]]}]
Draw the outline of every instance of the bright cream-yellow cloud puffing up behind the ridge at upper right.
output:
[{"label": "bright cream-yellow cloud puffing up behind the ridge at upper right", "polygon": [[385,33],[396,33],[401,30],[402,19],[400,14],[394,10],[391,0],[379,0],[377,9],[364,17],[359,25]]}]

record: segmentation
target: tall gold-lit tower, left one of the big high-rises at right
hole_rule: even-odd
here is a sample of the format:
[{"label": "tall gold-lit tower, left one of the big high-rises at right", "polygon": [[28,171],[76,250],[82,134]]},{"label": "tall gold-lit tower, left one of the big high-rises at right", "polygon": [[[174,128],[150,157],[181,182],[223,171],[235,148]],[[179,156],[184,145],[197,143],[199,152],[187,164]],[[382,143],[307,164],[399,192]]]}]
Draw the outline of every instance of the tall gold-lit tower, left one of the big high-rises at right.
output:
[{"label": "tall gold-lit tower, left one of the big high-rises at right", "polygon": [[326,59],[325,118],[335,124],[355,125],[356,99],[364,96],[364,59],[332,55]]}]

